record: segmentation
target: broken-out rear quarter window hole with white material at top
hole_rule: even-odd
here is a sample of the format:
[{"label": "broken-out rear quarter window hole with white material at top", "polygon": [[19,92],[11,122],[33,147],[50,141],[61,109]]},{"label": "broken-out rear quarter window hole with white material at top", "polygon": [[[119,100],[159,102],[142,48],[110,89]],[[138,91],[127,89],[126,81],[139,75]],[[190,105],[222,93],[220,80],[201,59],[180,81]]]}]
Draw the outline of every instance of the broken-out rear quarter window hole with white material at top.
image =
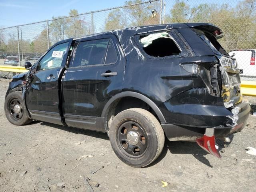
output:
[{"label": "broken-out rear quarter window hole with white material at top", "polygon": [[167,57],[181,53],[180,47],[168,32],[140,36],[139,42],[146,54],[153,57]]}]

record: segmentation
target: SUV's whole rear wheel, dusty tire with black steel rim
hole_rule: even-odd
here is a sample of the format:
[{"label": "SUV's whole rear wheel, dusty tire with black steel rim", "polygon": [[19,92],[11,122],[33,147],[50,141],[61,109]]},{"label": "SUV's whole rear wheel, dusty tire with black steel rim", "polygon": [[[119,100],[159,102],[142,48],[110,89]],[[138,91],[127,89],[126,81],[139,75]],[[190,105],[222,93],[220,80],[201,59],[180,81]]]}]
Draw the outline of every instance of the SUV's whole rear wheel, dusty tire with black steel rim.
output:
[{"label": "SUV's whole rear wheel, dusty tire with black steel rim", "polygon": [[162,126],[154,115],[140,108],[118,113],[111,123],[109,137],[118,158],[136,168],[152,163],[164,147]]}]

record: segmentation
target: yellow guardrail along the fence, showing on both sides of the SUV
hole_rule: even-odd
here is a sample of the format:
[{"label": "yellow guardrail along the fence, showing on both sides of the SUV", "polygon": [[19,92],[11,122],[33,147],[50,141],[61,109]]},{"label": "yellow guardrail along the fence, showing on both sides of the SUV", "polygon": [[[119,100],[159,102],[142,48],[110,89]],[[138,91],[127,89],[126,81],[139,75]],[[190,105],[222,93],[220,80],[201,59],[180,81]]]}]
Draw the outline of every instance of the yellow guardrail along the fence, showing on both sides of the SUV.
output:
[{"label": "yellow guardrail along the fence, showing on both sides of the SUV", "polygon": [[[19,66],[2,66],[0,71],[23,73],[27,70]],[[246,96],[256,96],[256,81],[241,81],[241,93]]]}]

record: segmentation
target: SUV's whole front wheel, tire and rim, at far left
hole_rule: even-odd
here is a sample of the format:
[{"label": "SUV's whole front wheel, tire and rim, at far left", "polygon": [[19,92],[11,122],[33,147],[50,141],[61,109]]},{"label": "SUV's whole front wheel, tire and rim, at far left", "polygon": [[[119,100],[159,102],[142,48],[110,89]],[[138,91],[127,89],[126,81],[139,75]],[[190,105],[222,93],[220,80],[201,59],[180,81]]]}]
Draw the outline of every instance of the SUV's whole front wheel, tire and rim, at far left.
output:
[{"label": "SUV's whole front wheel, tire and rim, at far left", "polygon": [[4,102],[4,112],[8,121],[14,125],[26,125],[32,122],[23,103],[21,91],[8,94]]}]

